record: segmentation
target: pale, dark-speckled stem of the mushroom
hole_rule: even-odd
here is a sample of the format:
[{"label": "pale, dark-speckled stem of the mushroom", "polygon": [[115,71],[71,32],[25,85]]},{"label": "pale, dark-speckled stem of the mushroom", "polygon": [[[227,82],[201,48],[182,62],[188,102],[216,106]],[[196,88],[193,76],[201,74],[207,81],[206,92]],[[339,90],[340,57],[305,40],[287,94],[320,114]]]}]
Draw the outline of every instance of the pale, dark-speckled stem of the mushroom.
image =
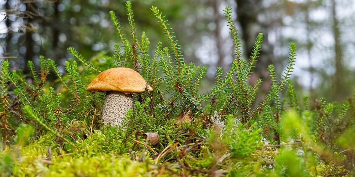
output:
[{"label": "pale, dark-speckled stem of the mushroom", "polygon": [[102,107],[104,124],[121,125],[129,108],[133,108],[131,94],[123,92],[107,92]]}]

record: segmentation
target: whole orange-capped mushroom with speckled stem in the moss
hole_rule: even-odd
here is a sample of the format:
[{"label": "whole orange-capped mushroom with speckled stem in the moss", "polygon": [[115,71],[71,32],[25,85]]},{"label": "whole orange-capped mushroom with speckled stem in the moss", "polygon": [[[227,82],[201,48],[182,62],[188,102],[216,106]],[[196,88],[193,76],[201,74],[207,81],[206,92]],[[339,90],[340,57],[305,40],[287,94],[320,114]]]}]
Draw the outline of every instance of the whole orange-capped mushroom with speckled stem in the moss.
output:
[{"label": "whole orange-capped mushroom with speckled stem in the moss", "polygon": [[86,91],[106,92],[101,118],[104,124],[121,125],[128,109],[133,108],[130,93],[142,93],[146,88],[153,91],[138,72],[121,67],[101,72],[86,87]]}]

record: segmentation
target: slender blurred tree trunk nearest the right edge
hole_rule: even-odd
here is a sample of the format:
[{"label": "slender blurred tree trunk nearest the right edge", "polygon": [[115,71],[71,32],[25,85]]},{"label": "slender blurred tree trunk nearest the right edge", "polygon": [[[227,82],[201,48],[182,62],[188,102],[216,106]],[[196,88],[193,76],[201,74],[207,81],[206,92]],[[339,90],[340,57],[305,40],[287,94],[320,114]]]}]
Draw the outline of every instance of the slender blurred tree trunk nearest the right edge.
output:
[{"label": "slender blurred tree trunk nearest the right edge", "polygon": [[341,51],[341,41],[340,41],[340,29],[339,29],[339,20],[336,17],[336,2],[332,0],[332,17],[333,17],[333,34],[334,34],[334,48],[335,48],[335,74],[334,74],[334,96],[336,100],[344,99],[346,95],[346,87],[344,85],[344,74],[342,66],[343,54]]}]

